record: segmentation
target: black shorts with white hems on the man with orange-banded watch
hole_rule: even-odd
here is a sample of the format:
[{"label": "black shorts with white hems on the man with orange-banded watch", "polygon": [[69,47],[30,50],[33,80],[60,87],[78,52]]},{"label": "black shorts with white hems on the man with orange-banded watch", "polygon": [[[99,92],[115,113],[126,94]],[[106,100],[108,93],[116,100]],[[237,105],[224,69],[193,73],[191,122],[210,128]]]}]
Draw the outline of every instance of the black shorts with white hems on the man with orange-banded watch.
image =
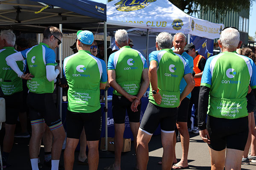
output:
[{"label": "black shorts with white hems on the man with orange-banded watch", "polygon": [[140,130],[152,135],[160,123],[162,132],[174,133],[176,121],[177,108],[162,108],[148,102],[140,124]]}]

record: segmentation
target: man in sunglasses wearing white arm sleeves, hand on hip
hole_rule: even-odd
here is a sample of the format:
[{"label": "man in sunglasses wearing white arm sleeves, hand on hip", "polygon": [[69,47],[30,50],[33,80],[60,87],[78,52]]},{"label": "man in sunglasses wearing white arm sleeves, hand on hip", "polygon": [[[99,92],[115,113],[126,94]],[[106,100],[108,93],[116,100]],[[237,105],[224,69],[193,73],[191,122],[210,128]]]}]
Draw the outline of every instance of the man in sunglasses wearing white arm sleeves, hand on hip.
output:
[{"label": "man in sunglasses wearing white arm sleeves, hand on hip", "polygon": [[[56,55],[53,50],[61,44],[61,38],[61,31],[56,27],[49,26],[45,28],[44,39],[39,45],[6,57],[7,63],[17,73],[18,77],[28,79],[27,104],[32,126],[29,155],[32,170],[38,170],[38,147],[44,134],[44,122],[50,128],[54,138],[52,143],[52,170],[58,170],[62,144],[65,139],[61,118],[52,97],[54,79],[61,71],[59,66],[55,68]],[[16,61],[25,59],[29,65],[30,74],[24,75],[18,69]]]}]

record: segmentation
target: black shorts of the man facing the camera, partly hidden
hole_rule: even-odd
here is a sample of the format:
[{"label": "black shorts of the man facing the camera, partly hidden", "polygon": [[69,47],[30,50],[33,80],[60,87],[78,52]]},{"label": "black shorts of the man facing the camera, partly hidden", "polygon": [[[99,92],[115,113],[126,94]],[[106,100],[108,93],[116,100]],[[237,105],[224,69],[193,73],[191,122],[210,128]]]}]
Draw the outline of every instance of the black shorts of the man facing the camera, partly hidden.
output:
[{"label": "black shorts of the man facing the camera, partly hidden", "polygon": [[185,97],[178,107],[177,122],[188,122],[189,98]]}]

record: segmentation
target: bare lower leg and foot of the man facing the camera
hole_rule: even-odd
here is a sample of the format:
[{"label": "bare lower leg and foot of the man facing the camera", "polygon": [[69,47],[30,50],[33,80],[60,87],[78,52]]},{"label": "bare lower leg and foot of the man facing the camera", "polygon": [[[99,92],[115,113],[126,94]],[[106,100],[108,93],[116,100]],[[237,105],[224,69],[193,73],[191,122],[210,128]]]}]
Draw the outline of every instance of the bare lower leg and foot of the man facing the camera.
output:
[{"label": "bare lower leg and foot of the man facing the camera", "polygon": [[[187,128],[187,123],[186,122],[177,122],[177,128],[180,132],[180,142],[181,142],[181,147],[182,147],[182,158],[175,165],[181,166],[181,167],[188,167],[189,166],[189,164],[188,164],[189,131],[188,131],[188,128]],[[172,168],[177,169],[178,167],[173,166]]]}]

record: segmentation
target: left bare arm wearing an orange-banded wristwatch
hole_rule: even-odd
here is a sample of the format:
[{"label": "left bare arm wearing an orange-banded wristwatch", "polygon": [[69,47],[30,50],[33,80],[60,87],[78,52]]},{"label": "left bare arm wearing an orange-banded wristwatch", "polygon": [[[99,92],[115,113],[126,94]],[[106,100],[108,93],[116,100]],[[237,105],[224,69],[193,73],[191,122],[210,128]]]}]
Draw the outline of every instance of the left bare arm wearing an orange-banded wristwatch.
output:
[{"label": "left bare arm wearing an orange-banded wristwatch", "polygon": [[[149,70],[148,70],[148,77],[149,81],[151,83],[152,90],[157,91],[158,90],[158,85],[157,85],[157,61],[152,60],[149,65]],[[162,102],[162,96],[158,92],[157,94],[152,94],[154,97],[154,100],[157,102],[158,105],[161,104]]]}]

